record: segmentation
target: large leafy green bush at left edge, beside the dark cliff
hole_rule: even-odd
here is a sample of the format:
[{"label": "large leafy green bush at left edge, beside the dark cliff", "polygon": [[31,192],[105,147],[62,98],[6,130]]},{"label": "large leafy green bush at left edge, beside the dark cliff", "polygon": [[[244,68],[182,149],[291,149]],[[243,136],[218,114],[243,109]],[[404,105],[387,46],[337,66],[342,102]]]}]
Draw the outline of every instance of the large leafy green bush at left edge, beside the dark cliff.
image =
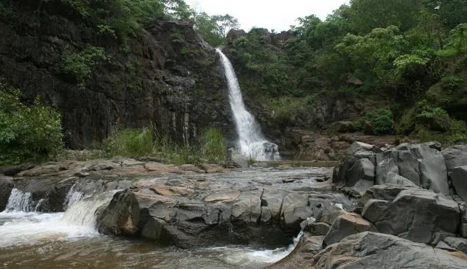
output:
[{"label": "large leafy green bush at left edge, beside the dark cliff", "polygon": [[62,138],[58,112],[39,98],[26,106],[21,92],[0,80],[0,166],[55,155]]}]

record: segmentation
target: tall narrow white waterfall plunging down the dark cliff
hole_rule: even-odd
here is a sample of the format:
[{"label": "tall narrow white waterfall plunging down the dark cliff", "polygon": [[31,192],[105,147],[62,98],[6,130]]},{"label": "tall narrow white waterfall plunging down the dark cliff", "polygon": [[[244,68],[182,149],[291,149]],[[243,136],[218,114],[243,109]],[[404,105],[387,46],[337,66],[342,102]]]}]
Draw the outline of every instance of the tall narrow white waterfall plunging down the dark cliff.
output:
[{"label": "tall narrow white waterfall plunging down the dark cliff", "polygon": [[257,161],[270,161],[280,159],[279,150],[275,143],[267,141],[250,112],[245,108],[241,97],[239,81],[235,75],[229,59],[222,53],[220,48],[216,49],[221,55],[222,66],[228,82],[228,97],[230,108],[235,120],[237,135],[239,137],[237,146],[242,155]]}]

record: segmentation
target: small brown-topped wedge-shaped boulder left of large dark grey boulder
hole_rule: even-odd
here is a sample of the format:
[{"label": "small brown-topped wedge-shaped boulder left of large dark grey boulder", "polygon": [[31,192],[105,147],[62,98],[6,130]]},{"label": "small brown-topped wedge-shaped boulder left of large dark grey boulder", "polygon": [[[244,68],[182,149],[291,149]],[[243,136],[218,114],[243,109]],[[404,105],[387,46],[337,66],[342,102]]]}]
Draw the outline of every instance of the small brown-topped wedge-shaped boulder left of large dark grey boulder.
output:
[{"label": "small brown-topped wedge-shaped boulder left of large dark grey boulder", "polygon": [[337,243],[343,238],[354,235],[358,232],[376,231],[373,224],[360,215],[346,213],[338,217],[333,223],[329,232],[323,239],[322,246],[325,248],[333,243]]}]

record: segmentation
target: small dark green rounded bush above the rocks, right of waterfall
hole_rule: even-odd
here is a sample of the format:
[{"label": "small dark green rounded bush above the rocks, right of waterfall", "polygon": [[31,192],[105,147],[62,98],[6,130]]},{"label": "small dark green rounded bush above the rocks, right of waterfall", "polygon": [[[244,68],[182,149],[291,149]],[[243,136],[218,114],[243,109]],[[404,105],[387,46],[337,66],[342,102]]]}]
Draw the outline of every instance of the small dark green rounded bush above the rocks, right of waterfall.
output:
[{"label": "small dark green rounded bush above the rocks, right of waterfall", "polygon": [[386,109],[365,114],[364,117],[354,122],[354,128],[356,130],[364,130],[365,122],[368,122],[369,126],[372,127],[369,135],[388,135],[392,132],[392,125],[394,123],[391,110]]}]

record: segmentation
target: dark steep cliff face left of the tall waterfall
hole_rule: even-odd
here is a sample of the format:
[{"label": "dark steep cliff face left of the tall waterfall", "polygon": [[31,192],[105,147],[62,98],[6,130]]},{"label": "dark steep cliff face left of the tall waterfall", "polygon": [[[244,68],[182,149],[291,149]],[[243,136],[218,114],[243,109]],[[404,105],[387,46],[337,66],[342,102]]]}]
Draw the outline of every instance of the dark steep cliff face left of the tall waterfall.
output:
[{"label": "dark steep cliff face left of the tall waterfall", "polygon": [[[85,88],[63,71],[64,54],[85,48],[77,24],[41,1],[2,1],[0,77],[62,113],[66,146],[82,148],[116,126],[154,126],[159,135],[192,143],[208,126],[235,132],[219,59],[183,21],[154,21],[126,51],[93,68]],[[111,41],[98,41],[118,50]]]}]

